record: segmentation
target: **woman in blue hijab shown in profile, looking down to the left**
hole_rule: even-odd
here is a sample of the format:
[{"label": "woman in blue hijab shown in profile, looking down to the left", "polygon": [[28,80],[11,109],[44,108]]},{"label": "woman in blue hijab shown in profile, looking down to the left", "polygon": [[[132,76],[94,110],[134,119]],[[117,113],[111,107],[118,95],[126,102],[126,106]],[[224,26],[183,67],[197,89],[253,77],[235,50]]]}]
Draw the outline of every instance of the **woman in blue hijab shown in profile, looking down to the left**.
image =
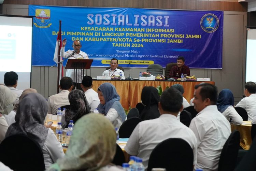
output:
[{"label": "woman in blue hijab shown in profile, looking down to the left", "polygon": [[116,88],[110,83],[103,83],[98,88],[100,104],[98,105],[99,113],[105,115],[114,125],[119,128],[126,119],[125,110],[122,107],[120,96]]}]

